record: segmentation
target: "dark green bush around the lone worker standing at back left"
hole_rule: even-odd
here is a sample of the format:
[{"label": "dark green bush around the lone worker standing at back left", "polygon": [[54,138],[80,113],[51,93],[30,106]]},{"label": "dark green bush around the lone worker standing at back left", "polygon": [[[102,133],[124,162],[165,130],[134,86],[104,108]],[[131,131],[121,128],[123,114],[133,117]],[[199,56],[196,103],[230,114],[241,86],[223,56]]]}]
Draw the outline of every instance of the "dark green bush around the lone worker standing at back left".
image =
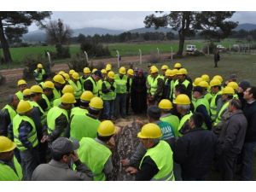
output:
[{"label": "dark green bush around the lone worker standing at back left", "polygon": [[37,68],[38,63],[42,63],[46,73],[50,73],[49,62],[42,55],[27,55],[23,63],[25,65],[23,69],[23,79],[34,79],[33,71]]}]

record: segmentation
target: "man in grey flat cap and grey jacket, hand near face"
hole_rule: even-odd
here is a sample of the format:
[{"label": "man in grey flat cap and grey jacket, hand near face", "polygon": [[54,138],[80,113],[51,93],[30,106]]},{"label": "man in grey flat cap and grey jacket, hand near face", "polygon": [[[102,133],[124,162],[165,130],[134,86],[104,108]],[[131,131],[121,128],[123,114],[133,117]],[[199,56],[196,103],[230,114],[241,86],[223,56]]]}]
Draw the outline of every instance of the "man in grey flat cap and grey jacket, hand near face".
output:
[{"label": "man in grey flat cap and grey jacket, hand near face", "polygon": [[[78,142],[66,137],[57,138],[51,145],[52,160],[39,165],[32,174],[32,181],[91,181],[92,173],[80,160],[75,150]],[[76,170],[70,167],[73,161]]]}]

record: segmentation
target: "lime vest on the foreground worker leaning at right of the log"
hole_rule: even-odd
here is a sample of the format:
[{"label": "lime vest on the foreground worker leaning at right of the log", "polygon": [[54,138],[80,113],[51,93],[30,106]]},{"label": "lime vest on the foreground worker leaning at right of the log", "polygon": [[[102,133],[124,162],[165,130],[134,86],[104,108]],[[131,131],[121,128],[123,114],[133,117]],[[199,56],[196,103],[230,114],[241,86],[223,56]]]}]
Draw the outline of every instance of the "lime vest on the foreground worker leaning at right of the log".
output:
[{"label": "lime vest on the foreground worker leaning at right of the log", "polygon": [[[172,149],[168,143],[161,140],[154,148],[148,148],[147,153],[143,156],[143,160],[146,156],[154,160],[155,165],[159,169],[159,172],[154,175],[151,181],[175,181]],[[139,168],[141,168],[143,160]]]}]

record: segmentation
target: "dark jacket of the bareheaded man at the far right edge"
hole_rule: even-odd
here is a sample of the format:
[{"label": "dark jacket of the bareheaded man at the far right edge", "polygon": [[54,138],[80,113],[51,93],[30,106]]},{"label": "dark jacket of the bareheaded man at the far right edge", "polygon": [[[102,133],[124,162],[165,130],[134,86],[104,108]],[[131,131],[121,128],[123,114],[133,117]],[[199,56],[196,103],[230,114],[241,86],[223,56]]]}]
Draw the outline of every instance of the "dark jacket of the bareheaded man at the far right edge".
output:
[{"label": "dark jacket of the bareheaded man at the far right edge", "polygon": [[256,101],[247,103],[243,108],[243,113],[248,122],[245,142],[256,142]]}]

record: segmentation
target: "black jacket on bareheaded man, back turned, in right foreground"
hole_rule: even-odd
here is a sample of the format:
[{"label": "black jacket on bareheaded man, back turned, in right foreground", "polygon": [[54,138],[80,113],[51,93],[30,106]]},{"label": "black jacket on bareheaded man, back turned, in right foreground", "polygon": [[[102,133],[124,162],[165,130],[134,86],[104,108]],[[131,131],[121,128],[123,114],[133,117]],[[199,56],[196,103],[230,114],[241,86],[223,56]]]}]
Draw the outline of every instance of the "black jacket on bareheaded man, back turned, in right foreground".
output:
[{"label": "black jacket on bareheaded man, back turned, in right foreground", "polygon": [[177,140],[173,159],[182,167],[182,176],[207,176],[215,157],[218,139],[212,131],[195,128]]}]

